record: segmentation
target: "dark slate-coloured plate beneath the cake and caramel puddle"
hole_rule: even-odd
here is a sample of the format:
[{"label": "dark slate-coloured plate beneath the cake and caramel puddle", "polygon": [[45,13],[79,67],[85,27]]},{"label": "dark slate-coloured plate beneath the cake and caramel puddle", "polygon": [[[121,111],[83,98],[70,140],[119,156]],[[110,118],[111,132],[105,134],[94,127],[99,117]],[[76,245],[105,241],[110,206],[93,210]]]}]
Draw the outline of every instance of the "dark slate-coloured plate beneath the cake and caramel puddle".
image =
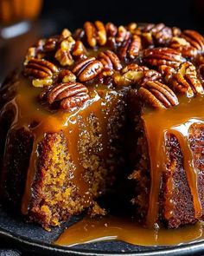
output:
[{"label": "dark slate-coloured plate beneath the cake and caramel puddle", "polygon": [[52,245],[65,226],[70,226],[78,220],[80,217],[74,217],[61,228],[54,228],[52,232],[47,232],[40,226],[26,223],[20,216],[12,217],[0,207],[1,243],[20,249],[22,252],[46,255],[204,255],[204,242],[169,247],[133,246],[121,241],[104,241],[71,247]]}]

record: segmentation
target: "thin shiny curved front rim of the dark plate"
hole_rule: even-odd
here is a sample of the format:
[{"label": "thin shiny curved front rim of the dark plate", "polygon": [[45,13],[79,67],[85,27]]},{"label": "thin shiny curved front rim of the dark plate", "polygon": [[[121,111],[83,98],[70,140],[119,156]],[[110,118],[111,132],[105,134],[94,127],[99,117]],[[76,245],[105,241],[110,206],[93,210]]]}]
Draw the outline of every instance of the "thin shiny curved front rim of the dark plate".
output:
[{"label": "thin shiny curved front rim of the dark plate", "polygon": [[[0,237],[5,240],[12,241],[12,245],[16,246],[15,249],[20,249],[23,252],[34,251],[35,253],[54,253],[61,255],[85,255],[85,256],[105,256],[105,255],[114,255],[114,256],[155,256],[155,255],[199,255],[198,253],[204,253],[204,240],[202,241],[192,241],[185,245],[180,246],[169,246],[168,248],[160,248],[159,250],[152,250],[149,252],[103,252],[100,250],[88,250],[88,249],[78,249],[72,248],[71,246],[58,246],[52,245],[47,242],[43,243],[42,241],[32,240],[30,238],[25,238],[22,235],[17,235],[6,230],[3,227],[0,227]],[[24,246],[24,247],[23,247]]]}]

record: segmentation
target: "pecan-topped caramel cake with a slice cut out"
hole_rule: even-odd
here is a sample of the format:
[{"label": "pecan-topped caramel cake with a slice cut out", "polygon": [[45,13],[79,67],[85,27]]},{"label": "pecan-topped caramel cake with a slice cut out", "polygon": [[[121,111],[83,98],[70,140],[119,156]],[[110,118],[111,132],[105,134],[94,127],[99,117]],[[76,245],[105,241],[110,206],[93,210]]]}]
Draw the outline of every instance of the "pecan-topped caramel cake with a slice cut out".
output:
[{"label": "pecan-topped caramel cake with a slice cut out", "polygon": [[49,229],[124,186],[145,226],[203,220],[203,85],[194,30],[96,21],[39,40],[0,92],[3,206]]}]

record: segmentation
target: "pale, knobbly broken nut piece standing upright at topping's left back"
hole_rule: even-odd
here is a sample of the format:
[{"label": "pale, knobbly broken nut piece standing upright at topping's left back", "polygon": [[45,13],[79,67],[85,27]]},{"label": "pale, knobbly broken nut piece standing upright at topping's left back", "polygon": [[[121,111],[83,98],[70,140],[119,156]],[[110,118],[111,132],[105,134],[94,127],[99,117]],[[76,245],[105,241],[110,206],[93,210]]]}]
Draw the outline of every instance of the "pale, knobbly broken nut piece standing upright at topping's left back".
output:
[{"label": "pale, knobbly broken nut piece standing upright at topping's left back", "polygon": [[68,36],[61,42],[61,47],[55,53],[55,59],[61,63],[61,66],[71,66],[73,64],[73,56],[71,50],[75,41],[72,36]]}]

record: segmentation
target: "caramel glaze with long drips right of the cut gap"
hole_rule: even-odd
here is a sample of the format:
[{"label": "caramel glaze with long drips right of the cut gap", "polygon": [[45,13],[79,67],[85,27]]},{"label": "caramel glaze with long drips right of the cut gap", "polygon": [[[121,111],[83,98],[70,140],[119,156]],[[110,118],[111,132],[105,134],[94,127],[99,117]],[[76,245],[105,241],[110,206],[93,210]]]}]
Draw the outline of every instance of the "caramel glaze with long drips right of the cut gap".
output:
[{"label": "caramel glaze with long drips right of the cut gap", "polygon": [[197,190],[197,170],[194,168],[192,152],[188,145],[188,128],[193,123],[204,122],[203,97],[197,96],[191,99],[181,97],[180,104],[174,108],[157,111],[145,109],[142,118],[150,154],[151,185],[147,226],[154,226],[157,219],[161,175],[166,170],[166,133],[175,135],[180,143],[184,161],[183,167],[194,202],[194,217],[198,218],[201,216],[202,208]]}]

